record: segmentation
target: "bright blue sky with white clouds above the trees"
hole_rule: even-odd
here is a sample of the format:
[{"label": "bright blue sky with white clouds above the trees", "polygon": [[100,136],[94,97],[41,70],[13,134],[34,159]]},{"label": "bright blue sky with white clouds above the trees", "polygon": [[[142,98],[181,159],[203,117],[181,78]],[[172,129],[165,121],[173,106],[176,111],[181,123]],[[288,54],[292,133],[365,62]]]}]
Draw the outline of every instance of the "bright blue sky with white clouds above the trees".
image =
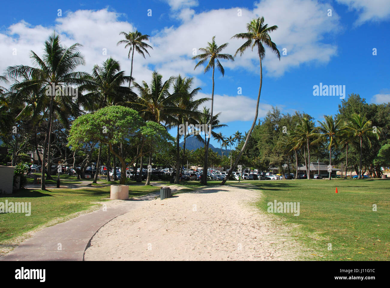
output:
[{"label": "bright blue sky with white clouds above the trees", "polygon": [[[148,9],[152,16],[147,16]],[[328,16],[328,9],[332,16]],[[305,111],[318,120],[324,114],[335,114],[339,96],[313,96],[313,86],[320,82],[345,85],[346,98],[358,93],[369,103],[390,101],[390,2],[386,0],[4,2],[0,11],[0,69],[30,65],[29,51],[39,54],[43,41],[55,29],[66,45],[84,45],[87,65],[79,70],[90,71],[94,64],[112,56],[129,73],[127,52],[116,43],[122,39],[120,31],[137,29],[151,36],[154,48],[150,58],[135,57],[133,76],[137,82],[150,82],[153,69],[165,79],[180,73],[195,77],[195,85],[202,88],[199,97],[206,97],[211,95],[211,73],[193,70],[193,48],[205,47],[215,35],[217,44],[229,42],[225,53],[234,54],[243,41],[230,37],[245,32],[245,24],[257,16],[264,16],[269,25],[278,25],[271,37],[281,53],[287,49],[280,61],[266,53],[260,119],[272,105],[282,113]],[[107,55],[102,53],[104,48]],[[377,55],[372,55],[373,48]],[[12,54],[14,49],[17,55]],[[222,64],[225,76],[215,75],[215,111],[222,112],[221,120],[229,127],[221,131],[226,136],[237,130],[244,134],[255,112],[258,57],[248,50],[234,63]],[[216,141],[211,143],[219,147]]]}]

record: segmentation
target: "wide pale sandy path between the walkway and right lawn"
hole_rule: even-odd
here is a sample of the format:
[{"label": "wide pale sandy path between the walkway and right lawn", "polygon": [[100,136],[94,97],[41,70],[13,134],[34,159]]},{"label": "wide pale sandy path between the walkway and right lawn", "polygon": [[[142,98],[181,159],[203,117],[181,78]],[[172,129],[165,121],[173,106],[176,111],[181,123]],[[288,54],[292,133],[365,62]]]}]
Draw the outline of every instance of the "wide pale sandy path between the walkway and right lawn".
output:
[{"label": "wide pale sandy path between the walkway and right lawn", "polygon": [[260,196],[226,186],[145,201],[99,229],[85,260],[297,259],[289,229],[252,206]]}]

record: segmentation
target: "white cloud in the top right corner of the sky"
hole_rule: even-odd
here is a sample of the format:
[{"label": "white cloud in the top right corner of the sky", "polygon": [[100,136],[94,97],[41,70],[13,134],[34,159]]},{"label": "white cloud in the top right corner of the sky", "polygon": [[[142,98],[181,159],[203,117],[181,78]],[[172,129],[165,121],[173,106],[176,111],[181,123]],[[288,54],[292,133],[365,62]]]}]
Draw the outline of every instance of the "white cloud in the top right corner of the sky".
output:
[{"label": "white cloud in the top right corner of the sky", "polygon": [[336,0],[340,4],[345,4],[349,9],[358,11],[359,18],[357,25],[366,21],[386,20],[390,17],[390,1],[388,0]]}]

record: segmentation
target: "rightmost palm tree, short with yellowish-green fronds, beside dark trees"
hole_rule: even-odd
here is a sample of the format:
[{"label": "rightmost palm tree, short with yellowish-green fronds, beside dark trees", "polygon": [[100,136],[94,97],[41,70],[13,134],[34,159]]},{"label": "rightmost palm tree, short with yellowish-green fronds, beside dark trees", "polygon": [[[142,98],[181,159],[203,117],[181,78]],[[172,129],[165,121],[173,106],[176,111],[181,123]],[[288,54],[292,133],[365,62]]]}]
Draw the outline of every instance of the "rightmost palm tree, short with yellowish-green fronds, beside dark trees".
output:
[{"label": "rightmost palm tree, short with yellowish-green fronds, beside dark trees", "polygon": [[359,160],[359,175],[358,179],[362,178],[362,157],[363,157],[363,139],[367,140],[371,148],[370,138],[376,137],[379,139],[379,130],[374,133],[372,129],[372,122],[367,120],[365,116],[354,113],[349,119],[348,123],[344,126],[344,129],[349,131],[354,138],[358,138],[360,141],[360,160]]}]

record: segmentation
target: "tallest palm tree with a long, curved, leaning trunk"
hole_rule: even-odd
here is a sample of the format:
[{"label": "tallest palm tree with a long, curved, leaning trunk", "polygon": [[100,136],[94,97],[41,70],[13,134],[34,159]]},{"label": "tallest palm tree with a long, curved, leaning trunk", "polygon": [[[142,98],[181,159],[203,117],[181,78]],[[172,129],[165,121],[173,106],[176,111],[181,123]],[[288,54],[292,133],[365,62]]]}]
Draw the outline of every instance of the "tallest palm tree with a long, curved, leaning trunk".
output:
[{"label": "tallest palm tree with a long, curved, leaning trunk", "polygon": [[257,103],[256,103],[256,110],[255,110],[255,119],[252,123],[252,126],[250,130],[248,131],[248,134],[246,135],[246,139],[244,142],[243,147],[241,148],[240,153],[238,154],[236,161],[234,161],[234,164],[232,166],[232,169],[230,169],[229,174],[227,177],[222,181],[221,185],[224,185],[227,179],[230,178],[230,175],[232,174],[233,169],[237,166],[239,160],[241,159],[241,156],[244,153],[244,150],[246,148],[246,145],[248,144],[248,140],[250,138],[250,135],[252,134],[253,129],[255,128],[255,124],[257,121],[257,116],[259,114],[259,102],[260,102],[260,94],[261,94],[261,85],[263,80],[263,74],[262,74],[262,59],[265,57],[265,48],[264,45],[270,48],[271,52],[274,52],[278,59],[280,60],[280,52],[276,47],[276,44],[271,41],[271,37],[269,36],[269,33],[275,31],[278,27],[276,25],[268,27],[268,24],[264,25],[264,17],[253,19],[250,23],[246,25],[247,32],[239,33],[234,35],[232,38],[236,39],[245,39],[246,42],[241,45],[240,48],[237,49],[236,53],[234,54],[234,57],[238,53],[240,53],[240,56],[242,56],[245,52],[245,50],[249,47],[253,48],[257,47],[257,54],[259,55],[259,61],[260,61],[260,86],[259,86],[259,94],[257,95]]}]

